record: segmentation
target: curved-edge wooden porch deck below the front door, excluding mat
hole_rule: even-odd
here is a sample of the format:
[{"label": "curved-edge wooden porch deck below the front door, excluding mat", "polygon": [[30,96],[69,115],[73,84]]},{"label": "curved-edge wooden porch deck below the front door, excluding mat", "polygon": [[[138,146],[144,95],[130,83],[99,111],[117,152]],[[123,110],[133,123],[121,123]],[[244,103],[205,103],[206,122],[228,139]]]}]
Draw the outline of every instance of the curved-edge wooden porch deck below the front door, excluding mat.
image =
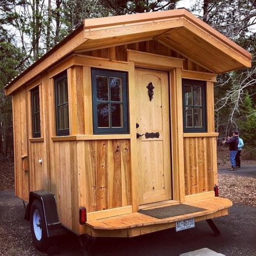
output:
[{"label": "curved-edge wooden porch deck below the front door, excluding mat", "polygon": [[133,237],[175,227],[176,221],[194,218],[195,222],[213,219],[228,214],[232,202],[227,198],[212,197],[189,203],[190,206],[204,208],[204,211],[157,219],[141,213],[104,218],[86,223],[86,233],[93,237]]}]

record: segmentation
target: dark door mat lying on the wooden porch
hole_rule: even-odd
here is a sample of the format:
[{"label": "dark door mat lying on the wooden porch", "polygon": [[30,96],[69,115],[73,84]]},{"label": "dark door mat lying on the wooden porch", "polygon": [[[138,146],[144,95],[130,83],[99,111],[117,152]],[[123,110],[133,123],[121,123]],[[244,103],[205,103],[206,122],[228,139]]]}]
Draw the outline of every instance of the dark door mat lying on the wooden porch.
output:
[{"label": "dark door mat lying on the wooden porch", "polygon": [[165,206],[160,208],[154,208],[150,210],[139,210],[139,213],[149,215],[154,218],[158,219],[165,219],[170,218],[174,216],[189,214],[189,213],[195,213],[195,212],[201,212],[205,211],[206,209],[198,208],[186,204],[177,204],[177,205],[171,205],[171,206]]}]

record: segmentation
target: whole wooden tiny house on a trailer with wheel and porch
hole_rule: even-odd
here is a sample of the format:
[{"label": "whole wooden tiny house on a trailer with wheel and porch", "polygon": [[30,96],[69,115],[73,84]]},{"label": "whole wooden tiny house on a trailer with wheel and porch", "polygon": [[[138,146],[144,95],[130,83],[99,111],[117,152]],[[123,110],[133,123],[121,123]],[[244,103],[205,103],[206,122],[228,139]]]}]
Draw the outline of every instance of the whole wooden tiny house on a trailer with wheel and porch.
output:
[{"label": "whole wooden tiny house on a trailer with wheel and porch", "polygon": [[250,53],[175,9],[85,20],[12,80],[15,193],[36,246],[61,227],[214,229],[232,205],[215,196],[214,83],[250,66]]}]

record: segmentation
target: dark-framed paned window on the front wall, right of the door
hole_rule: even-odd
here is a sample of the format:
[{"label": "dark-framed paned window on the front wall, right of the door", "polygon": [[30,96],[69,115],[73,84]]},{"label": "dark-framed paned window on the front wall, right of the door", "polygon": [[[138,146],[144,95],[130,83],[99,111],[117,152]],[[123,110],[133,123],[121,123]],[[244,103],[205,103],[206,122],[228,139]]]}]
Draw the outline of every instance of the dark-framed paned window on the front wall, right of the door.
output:
[{"label": "dark-framed paned window on the front wall, right of the door", "polygon": [[205,81],[182,79],[184,132],[206,131]]}]

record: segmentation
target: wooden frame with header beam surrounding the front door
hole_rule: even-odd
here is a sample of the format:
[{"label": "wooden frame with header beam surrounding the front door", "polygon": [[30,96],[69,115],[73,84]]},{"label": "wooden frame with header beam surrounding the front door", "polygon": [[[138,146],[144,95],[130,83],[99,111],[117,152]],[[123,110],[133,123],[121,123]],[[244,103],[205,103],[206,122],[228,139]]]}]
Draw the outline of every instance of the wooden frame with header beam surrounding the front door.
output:
[{"label": "wooden frame with header beam surrounding the front door", "polygon": [[[171,169],[172,169],[172,194],[174,200],[185,198],[184,191],[184,153],[183,153],[183,123],[182,107],[179,102],[182,99],[182,67],[183,59],[160,56],[143,52],[128,50],[128,62],[134,66],[134,71],[129,72],[129,112],[135,113],[135,67],[150,68],[154,70],[168,71],[169,73],[169,109],[170,109],[170,141],[171,141]],[[153,65],[154,64],[154,65]],[[180,85],[180,86],[177,86]],[[139,209],[138,200],[138,166],[136,154],[136,118],[130,115],[131,133],[131,191],[132,191],[132,210],[137,212]],[[175,152],[175,154],[173,154]],[[173,168],[175,166],[175,168]],[[184,198],[182,198],[184,197]]]}]

